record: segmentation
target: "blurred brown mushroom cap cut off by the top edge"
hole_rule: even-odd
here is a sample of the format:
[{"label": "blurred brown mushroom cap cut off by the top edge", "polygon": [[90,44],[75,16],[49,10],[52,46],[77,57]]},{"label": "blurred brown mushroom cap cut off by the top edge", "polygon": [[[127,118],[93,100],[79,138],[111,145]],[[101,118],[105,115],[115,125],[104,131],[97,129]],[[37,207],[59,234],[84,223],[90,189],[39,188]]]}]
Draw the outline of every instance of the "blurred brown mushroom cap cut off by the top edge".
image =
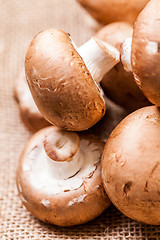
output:
[{"label": "blurred brown mushroom cap cut off by the top edge", "polygon": [[149,0],[77,0],[95,19],[108,24],[115,21],[134,23]]}]

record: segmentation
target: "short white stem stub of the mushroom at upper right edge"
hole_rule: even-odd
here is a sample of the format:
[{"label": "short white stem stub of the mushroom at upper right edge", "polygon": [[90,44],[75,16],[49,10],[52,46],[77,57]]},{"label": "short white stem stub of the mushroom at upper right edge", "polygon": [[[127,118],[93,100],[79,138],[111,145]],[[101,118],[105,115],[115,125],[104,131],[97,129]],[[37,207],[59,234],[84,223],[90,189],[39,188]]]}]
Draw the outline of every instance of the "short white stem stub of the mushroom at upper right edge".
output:
[{"label": "short white stem stub of the mushroom at upper right edge", "polygon": [[121,51],[121,62],[123,64],[124,69],[127,72],[132,72],[131,66],[131,47],[132,47],[132,38],[127,38],[123,45]]}]

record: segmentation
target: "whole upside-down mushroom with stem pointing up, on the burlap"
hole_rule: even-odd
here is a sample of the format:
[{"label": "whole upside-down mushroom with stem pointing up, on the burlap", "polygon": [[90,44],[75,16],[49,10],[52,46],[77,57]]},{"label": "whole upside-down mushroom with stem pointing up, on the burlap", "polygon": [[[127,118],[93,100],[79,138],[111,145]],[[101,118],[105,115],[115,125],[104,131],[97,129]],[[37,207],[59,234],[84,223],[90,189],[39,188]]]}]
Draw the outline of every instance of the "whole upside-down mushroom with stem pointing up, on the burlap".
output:
[{"label": "whole upside-down mushroom with stem pointing up, on the burlap", "polygon": [[25,207],[41,221],[59,226],[85,223],[110,205],[102,186],[104,144],[58,127],[44,128],[26,145],[17,170]]}]

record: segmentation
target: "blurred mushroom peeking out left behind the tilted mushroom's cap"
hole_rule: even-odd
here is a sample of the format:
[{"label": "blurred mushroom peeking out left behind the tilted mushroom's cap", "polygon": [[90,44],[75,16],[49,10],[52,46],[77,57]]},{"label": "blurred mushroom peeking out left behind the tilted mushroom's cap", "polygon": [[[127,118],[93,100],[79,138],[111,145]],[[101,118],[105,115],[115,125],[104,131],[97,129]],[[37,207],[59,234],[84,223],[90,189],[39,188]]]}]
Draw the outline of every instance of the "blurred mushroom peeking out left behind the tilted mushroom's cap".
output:
[{"label": "blurred mushroom peeking out left behind the tilted mushroom's cap", "polygon": [[24,69],[18,75],[14,86],[14,98],[16,99],[20,116],[25,126],[32,132],[47,127],[47,122],[39,112],[30,93]]}]

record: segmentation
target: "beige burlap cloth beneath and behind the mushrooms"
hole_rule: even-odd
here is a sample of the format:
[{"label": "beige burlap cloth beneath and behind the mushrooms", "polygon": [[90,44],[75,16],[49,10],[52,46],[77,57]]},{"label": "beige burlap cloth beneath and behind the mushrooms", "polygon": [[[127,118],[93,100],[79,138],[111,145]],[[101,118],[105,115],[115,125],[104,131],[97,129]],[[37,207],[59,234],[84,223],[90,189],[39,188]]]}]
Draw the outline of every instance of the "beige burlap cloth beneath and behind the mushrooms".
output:
[{"label": "beige burlap cloth beneath and behind the mushrooms", "polygon": [[77,44],[99,27],[75,0],[0,1],[0,240],[160,239],[160,227],[137,223],[110,207],[96,220],[69,228],[44,224],[21,204],[15,175],[30,133],[13,100],[13,83],[32,37],[46,28],[69,32]]}]

